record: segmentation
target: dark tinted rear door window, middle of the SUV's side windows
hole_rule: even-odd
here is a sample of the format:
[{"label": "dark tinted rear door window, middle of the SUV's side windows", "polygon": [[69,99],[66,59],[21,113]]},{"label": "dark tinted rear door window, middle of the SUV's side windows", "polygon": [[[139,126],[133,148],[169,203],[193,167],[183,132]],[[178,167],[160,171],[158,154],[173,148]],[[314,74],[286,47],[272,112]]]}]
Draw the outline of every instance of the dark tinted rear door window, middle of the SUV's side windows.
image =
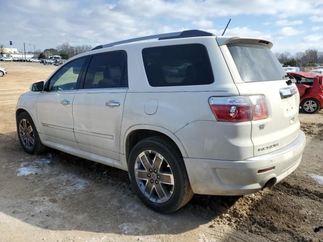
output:
[{"label": "dark tinted rear door window, middle of the SUV's side windows", "polygon": [[85,76],[84,89],[127,86],[125,52],[97,54],[91,57]]}]

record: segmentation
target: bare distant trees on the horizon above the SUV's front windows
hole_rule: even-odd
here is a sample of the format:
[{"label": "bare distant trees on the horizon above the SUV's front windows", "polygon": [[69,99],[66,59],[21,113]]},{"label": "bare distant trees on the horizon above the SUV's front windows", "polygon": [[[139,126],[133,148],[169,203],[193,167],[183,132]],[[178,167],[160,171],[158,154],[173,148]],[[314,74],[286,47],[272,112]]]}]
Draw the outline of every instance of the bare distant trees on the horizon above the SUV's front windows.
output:
[{"label": "bare distant trees on the horizon above the SUV's front windows", "polygon": [[68,59],[73,57],[74,55],[81,54],[87,52],[92,49],[91,45],[83,44],[83,45],[70,45],[68,42],[60,44],[55,48],[44,49],[41,51],[40,49],[36,50],[34,55],[38,56],[39,59],[48,58],[48,56],[52,55],[61,55],[63,59]]}]

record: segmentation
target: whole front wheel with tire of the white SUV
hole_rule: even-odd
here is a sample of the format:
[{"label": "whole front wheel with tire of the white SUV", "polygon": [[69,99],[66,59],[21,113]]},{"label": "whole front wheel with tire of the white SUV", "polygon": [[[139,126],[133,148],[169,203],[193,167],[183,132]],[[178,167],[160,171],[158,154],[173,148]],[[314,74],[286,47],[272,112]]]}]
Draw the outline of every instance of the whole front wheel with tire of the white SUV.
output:
[{"label": "whole front wheel with tire of the white SUV", "polygon": [[17,117],[17,133],[21,146],[29,154],[37,155],[46,151],[39,138],[36,127],[31,116],[27,112],[22,112]]}]

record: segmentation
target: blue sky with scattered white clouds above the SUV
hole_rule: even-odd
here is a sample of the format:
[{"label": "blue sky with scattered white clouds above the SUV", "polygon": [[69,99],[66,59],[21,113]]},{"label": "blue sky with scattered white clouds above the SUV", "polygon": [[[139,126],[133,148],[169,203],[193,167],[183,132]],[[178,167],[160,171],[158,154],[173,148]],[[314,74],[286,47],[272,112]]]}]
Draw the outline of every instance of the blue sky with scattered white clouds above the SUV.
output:
[{"label": "blue sky with scattered white clouds above the SUV", "polygon": [[[109,43],[128,38],[201,29],[257,37],[273,51],[323,51],[323,1],[318,0],[2,0],[0,43],[26,51]],[[32,47],[33,48],[33,47]]]}]

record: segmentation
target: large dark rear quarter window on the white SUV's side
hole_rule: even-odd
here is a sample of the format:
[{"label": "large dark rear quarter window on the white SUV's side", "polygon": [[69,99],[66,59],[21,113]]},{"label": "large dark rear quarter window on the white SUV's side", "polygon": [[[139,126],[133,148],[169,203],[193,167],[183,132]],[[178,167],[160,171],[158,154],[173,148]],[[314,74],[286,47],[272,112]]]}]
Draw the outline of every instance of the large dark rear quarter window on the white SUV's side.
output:
[{"label": "large dark rear quarter window on the white SUV's side", "polygon": [[206,85],[214,82],[207,50],[202,44],[144,48],[142,57],[152,87]]}]

